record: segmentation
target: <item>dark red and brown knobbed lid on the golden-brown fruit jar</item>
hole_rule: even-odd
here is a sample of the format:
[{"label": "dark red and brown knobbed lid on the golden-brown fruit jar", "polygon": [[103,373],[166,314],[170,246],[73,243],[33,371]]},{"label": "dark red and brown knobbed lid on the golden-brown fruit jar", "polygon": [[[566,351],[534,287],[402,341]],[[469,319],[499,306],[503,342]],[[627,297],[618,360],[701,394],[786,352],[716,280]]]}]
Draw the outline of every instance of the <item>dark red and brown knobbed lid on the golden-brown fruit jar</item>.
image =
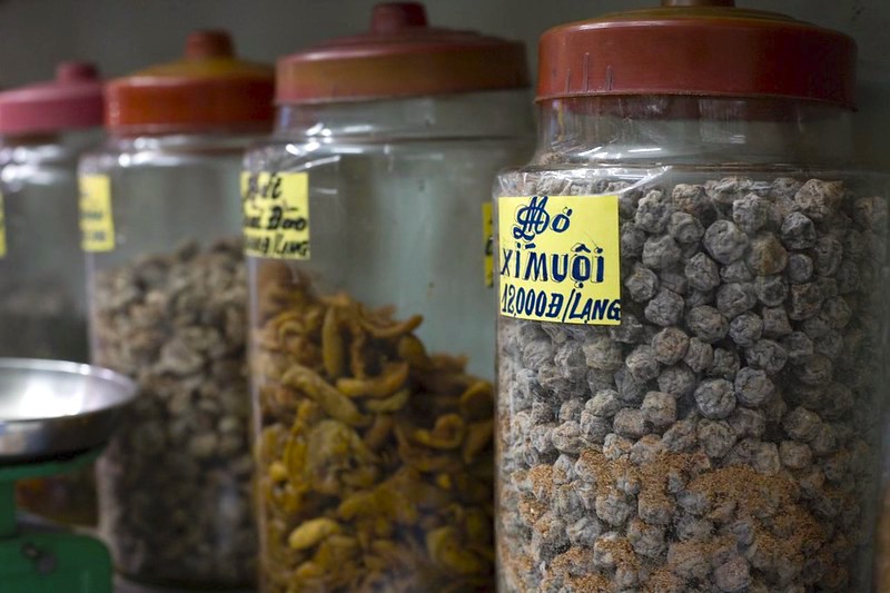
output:
[{"label": "dark red and brown knobbed lid on the golden-brown fruit jar", "polygon": [[525,47],[429,27],[423,4],[374,7],[370,31],[278,60],[278,103],[418,97],[528,86]]}]

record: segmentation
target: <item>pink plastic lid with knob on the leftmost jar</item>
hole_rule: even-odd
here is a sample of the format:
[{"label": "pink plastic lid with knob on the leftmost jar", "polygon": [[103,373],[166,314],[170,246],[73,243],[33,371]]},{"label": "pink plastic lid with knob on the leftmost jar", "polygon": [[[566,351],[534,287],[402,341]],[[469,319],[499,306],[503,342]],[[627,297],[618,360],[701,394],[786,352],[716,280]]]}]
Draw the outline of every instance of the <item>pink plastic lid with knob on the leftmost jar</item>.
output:
[{"label": "pink plastic lid with knob on the leftmost jar", "polygon": [[62,62],[56,80],[0,92],[0,135],[47,134],[102,125],[102,82],[96,67]]}]

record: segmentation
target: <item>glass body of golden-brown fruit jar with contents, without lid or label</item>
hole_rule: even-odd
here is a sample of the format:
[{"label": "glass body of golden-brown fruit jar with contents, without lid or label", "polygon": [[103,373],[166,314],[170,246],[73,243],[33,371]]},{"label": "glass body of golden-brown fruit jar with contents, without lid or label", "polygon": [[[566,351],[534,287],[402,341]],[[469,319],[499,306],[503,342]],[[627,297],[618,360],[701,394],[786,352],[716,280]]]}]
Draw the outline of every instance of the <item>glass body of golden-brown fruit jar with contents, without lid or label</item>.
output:
[{"label": "glass body of golden-brown fruit jar with contents, without lid or label", "polygon": [[[267,591],[315,579],[330,591],[444,586],[464,572],[486,582],[494,318],[483,204],[492,176],[528,152],[526,113],[515,91],[285,108],[287,127],[248,155],[251,174],[308,174],[310,217],[309,259],[248,258]],[[349,414],[315,401],[316,388]],[[355,448],[325,445],[340,438]],[[372,520],[380,533],[366,532]],[[318,542],[295,545],[295,527],[334,521],[344,545],[372,537],[379,550],[342,551],[339,576],[295,572],[329,562]],[[442,538],[434,551],[431,537]],[[444,557],[431,560],[436,551]]]}]

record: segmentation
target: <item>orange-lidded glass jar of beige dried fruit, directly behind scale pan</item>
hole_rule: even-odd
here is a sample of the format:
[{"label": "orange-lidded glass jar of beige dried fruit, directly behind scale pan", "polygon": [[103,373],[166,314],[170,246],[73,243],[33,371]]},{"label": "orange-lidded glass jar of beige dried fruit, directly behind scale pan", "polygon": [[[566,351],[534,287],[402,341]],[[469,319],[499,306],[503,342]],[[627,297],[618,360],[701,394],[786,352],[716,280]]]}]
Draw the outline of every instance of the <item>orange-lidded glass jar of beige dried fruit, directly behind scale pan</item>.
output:
[{"label": "orange-lidded glass jar of beige dried fruit, directly behind scale pan", "polygon": [[228,34],[192,33],[185,61],[110,82],[109,140],[80,164],[92,362],[141,391],[97,472],[130,581],[255,580],[238,175],[271,91]]}]

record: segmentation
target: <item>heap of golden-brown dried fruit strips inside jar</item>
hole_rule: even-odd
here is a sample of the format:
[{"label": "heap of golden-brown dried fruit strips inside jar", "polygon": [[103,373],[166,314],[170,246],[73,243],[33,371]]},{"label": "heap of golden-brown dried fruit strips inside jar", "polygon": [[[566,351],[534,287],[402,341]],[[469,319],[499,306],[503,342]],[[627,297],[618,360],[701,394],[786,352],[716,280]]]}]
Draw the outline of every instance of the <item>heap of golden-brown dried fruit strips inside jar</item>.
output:
[{"label": "heap of golden-brown dried fruit strips inside jar", "polygon": [[419,316],[260,265],[265,590],[493,590],[491,384],[428,355]]}]

